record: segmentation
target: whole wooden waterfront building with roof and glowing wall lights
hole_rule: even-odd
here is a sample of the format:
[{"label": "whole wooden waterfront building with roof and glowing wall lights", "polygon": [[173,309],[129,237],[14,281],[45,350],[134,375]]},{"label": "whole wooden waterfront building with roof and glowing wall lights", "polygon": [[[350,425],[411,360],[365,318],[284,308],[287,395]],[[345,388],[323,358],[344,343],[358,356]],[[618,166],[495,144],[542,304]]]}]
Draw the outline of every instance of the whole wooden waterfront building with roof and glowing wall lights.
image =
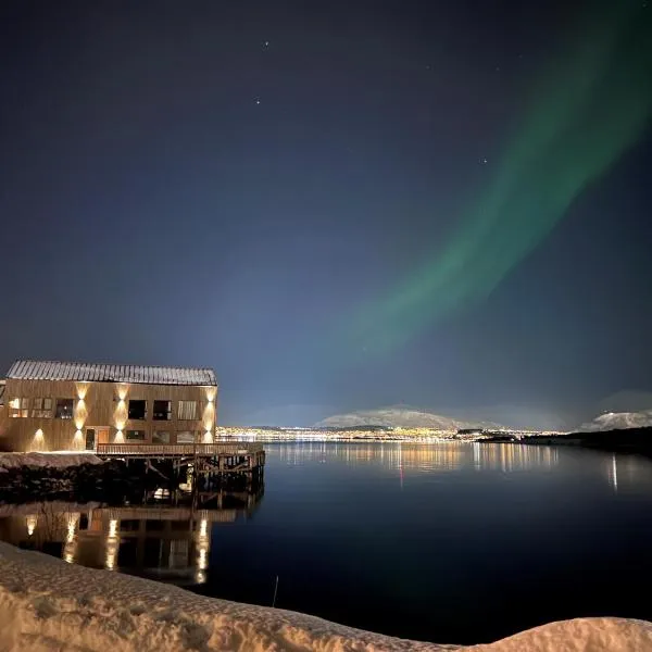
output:
[{"label": "whole wooden waterfront building with roof and glowing wall lights", "polygon": [[214,440],[213,369],[21,360],[4,380],[0,440],[13,451]]}]

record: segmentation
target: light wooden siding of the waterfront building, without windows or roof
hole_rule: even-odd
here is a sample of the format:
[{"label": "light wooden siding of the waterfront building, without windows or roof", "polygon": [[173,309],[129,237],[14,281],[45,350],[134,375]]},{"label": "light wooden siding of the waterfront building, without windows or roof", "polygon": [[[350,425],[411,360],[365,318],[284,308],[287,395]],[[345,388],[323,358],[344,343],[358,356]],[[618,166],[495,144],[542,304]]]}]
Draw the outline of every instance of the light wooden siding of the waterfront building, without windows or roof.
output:
[{"label": "light wooden siding of the waterfront building, without windows or roof", "polygon": [[[118,430],[126,440],[127,430],[145,430],[142,443],[152,442],[152,432],[163,430],[171,434],[171,443],[176,442],[177,432],[195,431],[198,441],[211,439],[215,432],[217,387],[197,387],[179,385],[145,385],[117,383],[75,383],[70,380],[23,380],[7,379],[4,409],[0,434],[2,448],[14,451],[55,451],[83,450],[86,448],[87,428],[110,429],[109,442],[116,441]],[[82,399],[82,397],[84,397]],[[124,397],[124,404],[120,403]],[[212,397],[213,401],[209,401]],[[29,399],[28,417],[10,417],[13,399]],[[52,418],[36,418],[32,416],[33,399],[52,399]],[[55,418],[57,399],[74,399],[74,418]],[[127,419],[129,400],[147,401],[147,419]],[[154,400],[172,401],[172,419],[154,421]],[[196,421],[179,421],[177,418],[179,401],[197,401]],[[39,432],[40,431],[40,432]],[[38,435],[37,435],[38,434]],[[138,446],[138,443],[134,443]]]}]

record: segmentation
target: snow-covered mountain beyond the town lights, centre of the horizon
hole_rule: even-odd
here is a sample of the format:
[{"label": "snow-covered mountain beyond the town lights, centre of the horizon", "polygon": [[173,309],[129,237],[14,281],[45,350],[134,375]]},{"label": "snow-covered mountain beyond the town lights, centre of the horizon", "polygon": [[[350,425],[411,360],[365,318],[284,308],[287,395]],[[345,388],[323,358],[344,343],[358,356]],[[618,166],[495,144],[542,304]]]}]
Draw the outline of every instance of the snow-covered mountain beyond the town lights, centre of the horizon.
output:
[{"label": "snow-covered mountain beyond the town lights, centre of the horizon", "polygon": [[468,422],[440,414],[432,414],[414,408],[381,408],[379,410],[361,410],[348,414],[329,416],[313,427],[315,428],[355,428],[361,426],[379,426],[384,428],[436,428],[438,430],[459,430],[460,428],[499,428],[497,424],[487,422]]}]

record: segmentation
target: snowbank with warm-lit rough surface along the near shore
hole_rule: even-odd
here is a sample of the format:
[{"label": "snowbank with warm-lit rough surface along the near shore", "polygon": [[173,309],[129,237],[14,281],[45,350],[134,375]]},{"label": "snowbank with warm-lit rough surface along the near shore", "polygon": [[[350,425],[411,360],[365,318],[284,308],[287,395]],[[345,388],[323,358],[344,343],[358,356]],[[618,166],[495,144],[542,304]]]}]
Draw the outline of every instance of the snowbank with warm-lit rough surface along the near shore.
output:
[{"label": "snowbank with warm-lit rough surface along the near shore", "polygon": [[652,624],[586,618],[487,645],[437,645],[196,595],[0,543],[0,650],[640,652],[652,650]]}]

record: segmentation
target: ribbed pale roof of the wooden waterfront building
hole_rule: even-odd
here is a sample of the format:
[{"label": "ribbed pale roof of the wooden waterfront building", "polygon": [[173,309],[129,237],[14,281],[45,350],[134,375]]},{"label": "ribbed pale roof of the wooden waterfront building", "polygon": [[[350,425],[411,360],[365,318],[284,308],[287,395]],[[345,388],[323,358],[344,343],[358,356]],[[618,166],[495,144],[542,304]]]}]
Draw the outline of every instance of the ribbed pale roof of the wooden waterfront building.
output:
[{"label": "ribbed pale roof of the wooden waterfront building", "polygon": [[51,362],[41,360],[16,360],[9,369],[7,377],[23,380],[217,385],[215,372],[209,368]]}]

